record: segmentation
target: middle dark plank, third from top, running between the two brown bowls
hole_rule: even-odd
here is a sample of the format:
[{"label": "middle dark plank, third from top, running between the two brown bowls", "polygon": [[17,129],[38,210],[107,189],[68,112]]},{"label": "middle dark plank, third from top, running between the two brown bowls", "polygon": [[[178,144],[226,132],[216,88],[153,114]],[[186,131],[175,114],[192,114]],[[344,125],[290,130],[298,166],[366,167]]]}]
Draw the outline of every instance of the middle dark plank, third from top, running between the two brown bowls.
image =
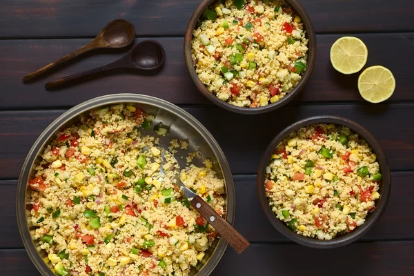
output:
[{"label": "middle dark plank, third from top, running between the two brown bowls", "polygon": [[[237,115],[221,108],[184,108],[211,132],[234,174],[257,172],[259,160],[278,132],[306,117],[338,115],[366,127],[385,150],[391,170],[414,170],[414,103],[379,105],[293,105],[266,115]],[[0,112],[0,179],[17,179],[39,134],[63,110]],[[383,126],[387,126],[386,129]],[[223,131],[231,128],[232,135]]]}]

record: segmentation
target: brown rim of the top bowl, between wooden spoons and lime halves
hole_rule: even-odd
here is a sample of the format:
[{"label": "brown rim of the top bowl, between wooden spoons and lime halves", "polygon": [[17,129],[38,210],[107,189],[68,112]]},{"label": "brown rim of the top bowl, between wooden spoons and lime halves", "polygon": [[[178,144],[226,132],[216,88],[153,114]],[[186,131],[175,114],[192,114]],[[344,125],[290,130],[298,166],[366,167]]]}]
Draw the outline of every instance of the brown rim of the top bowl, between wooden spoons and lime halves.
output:
[{"label": "brown rim of the top bowl, between wooden spoons and lime halves", "polygon": [[261,106],[259,108],[242,108],[238,106],[233,106],[232,104],[227,103],[226,101],[221,101],[221,99],[217,98],[212,92],[208,91],[206,86],[204,86],[204,84],[200,81],[197,73],[195,72],[195,66],[193,63],[193,59],[191,58],[191,40],[193,39],[193,30],[195,29],[197,21],[199,20],[199,17],[204,12],[204,10],[206,10],[206,8],[208,8],[208,6],[210,6],[215,1],[216,0],[204,0],[198,6],[198,8],[193,13],[193,16],[191,17],[190,21],[188,22],[186,34],[184,36],[184,59],[186,60],[188,72],[190,72],[190,76],[193,79],[198,90],[208,99],[210,99],[210,101],[213,101],[213,103],[217,104],[217,106],[242,114],[259,114],[269,112],[271,110],[275,110],[277,108],[284,106],[286,103],[291,101],[293,97],[299,94],[300,90],[304,88],[309,77],[311,77],[313,66],[315,65],[316,36],[315,30],[313,29],[312,21],[309,18],[308,14],[297,0],[285,0],[286,3],[288,3],[288,6],[290,6],[290,8],[292,8],[293,11],[296,14],[299,14],[299,17],[302,18],[302,21],[304,23],[304,29],[306,30],[306,37],[309,40],[308,63],[304,75],[302,75],[302,79],[299,81],[299,83],[297,83],[297,86],[295,86],[295,88],[293,88],[293,90],[291,90],[288,93],[288,95],[286,95],[285,97],[283,97],[275,103],[270,103],[267,106]]}]

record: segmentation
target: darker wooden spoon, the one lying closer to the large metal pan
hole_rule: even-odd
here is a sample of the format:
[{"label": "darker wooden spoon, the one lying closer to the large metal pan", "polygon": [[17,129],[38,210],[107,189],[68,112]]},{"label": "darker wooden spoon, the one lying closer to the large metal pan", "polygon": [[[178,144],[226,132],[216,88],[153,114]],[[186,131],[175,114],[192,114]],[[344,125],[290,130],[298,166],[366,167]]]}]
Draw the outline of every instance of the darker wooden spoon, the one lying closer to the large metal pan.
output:
[{"label": "darker wooden spoon, the one lying closer to the large metal pan", "polygon": [[97,72],[103,72],[106,70],[112,70],[116,68],[132,68],[137,70],[155,70],[164,63],[165,57],[164,48],[155,40],[146,40],[141,41],[134,46],[129,52],[117,59],[103,66],[93,68],[90,70],[85,70],[62,79],[57,79],[55,81],[50,81],[46,83],[45,87],[47,90],[53,90],[58,86],[66,84],[75,79],[81,77],[86,77],[88,75],[95,74]]}]

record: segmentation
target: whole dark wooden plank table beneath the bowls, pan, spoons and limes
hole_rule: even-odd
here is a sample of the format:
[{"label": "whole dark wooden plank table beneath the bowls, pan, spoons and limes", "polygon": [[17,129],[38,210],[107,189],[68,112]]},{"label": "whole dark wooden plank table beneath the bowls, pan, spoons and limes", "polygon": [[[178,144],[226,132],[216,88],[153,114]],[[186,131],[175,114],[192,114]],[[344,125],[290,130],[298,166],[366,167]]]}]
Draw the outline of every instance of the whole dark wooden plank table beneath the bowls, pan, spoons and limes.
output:
[{"label": "whole dark wooden plank table beneath the bowls, pan, spoons and limes", "polygon": [[[200,0],[3,0],[0,4],[0,275],[39,275],[26,254],[14,196],[23,160],[39,133],[68,108],[119,92],[176,103],[201,121],[226,153],[237,192],[235,227],[253,246],[238,256],[228,248],[212,275],[414,275],[414,1],[302,0],[317,32],[317,62],[306,89],[275,112],[255,117],[213,106],[195,89],[183,57],[188,19]],[[85,55],[30,85],[21,77],[83,46],[111,19],[123,17],[137,41],[152,37],[166,49],[158,75],[114,72],[59,92],[47,81],[117,59],[127,49]],[[332,43],[355,35],[368,46],[367,66],[393,71],[391,99],[373,105],[329,61]],[[411,87],[410,87],[411,85]],[[259,206],[255,173],[268,142],[289,124],[313,115],[340,115],[377,137],[392,169],[386,212],[360,241],[332,250],[289,242]]]}]

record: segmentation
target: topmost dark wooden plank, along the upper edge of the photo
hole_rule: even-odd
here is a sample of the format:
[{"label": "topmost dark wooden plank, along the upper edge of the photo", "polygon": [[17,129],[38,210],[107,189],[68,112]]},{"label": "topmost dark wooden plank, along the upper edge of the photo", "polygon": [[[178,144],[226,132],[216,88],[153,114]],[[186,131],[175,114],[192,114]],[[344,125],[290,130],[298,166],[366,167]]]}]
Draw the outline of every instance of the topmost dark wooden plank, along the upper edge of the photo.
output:
[{"label": "topmost dark wooden plank, along the upper edge of the photo", "polygon": [[[412,31],[413,1],[301,0],[317,32]],[[94,37],[111,19],[130,20],[139,36],[183,35],[201,0],[3,0],[0,37]]]}]

